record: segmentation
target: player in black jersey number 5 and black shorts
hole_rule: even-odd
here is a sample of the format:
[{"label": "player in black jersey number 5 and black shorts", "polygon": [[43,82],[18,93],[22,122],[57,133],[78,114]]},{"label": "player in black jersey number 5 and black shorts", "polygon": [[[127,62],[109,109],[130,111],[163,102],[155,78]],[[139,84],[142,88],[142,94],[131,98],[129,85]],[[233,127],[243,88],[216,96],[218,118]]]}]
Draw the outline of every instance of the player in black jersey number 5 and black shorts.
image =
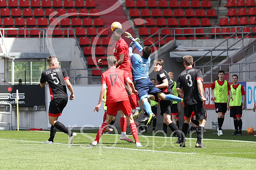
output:
[{"label": "player in black jersey number 5 and black shorts", "polygon": [[55,133],[58,130],[68,134],[69,143],[71,144],[74,141],[77,133],[69,131],[65,125],[58,121],[58,117],[61,115],[64,107],[68,102],[68,94],[66,89],[66,84],[68,90],[70,90],[70,100],[74,100],[74,91],[72,85],[69,81],[68,74],[65,69],[58,68],[59,62],[57,57],[50,56],[47,58],[47,63],[49,65],[49,69],[45,70],[41,74],[40,86],[44,87],[46,82],[49,85],[51,101],[49,105],[48,118],[49,123],[51,124],[50,138],[43,142],[44,144],[53,144],[53,139]]}]

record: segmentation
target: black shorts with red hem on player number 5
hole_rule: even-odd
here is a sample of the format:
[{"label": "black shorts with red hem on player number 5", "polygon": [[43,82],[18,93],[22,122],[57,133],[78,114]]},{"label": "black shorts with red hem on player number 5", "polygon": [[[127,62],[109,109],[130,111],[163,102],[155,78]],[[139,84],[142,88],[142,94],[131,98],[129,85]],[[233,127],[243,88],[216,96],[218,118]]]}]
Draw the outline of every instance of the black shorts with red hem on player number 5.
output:
[{"label": "black shorts with red hem on player number 5", "polygon": [[48,115],[51,117],[60,116],[68,103],[68,98],[57,98],[50,101]]}]

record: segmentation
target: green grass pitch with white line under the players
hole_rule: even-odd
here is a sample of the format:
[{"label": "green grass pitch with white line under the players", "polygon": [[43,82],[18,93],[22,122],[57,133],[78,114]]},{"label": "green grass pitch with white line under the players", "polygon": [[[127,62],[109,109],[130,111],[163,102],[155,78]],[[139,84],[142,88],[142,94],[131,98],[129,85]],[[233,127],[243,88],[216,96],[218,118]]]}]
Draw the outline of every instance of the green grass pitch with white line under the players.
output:
[{"label": "green grass pitch with white line under the players", "polygon": [[[256,136],[246,131],[243,136],[223,136],[206,129],[203,143],[207,148],[195,148],[196,134],[186,140],[186,148],[172,144],[175,138],[157,133],[139,136],[144,147],[119,140],[119,135],[102,136],[101,142],[90,147],[97,130],[78,133],[73,145],[67,145],[68,135],[57,132],[53,145],[42,144],[49,138],[46,131],[0,131],[1,169],[256,169]],[[88,133],[90,132],[90,133]],[[168,134],[170,135],[170,134]],[[187,135],[187,137],[189,134]],[[132,136],[129,136],[133,139]],[[191,146],[191,147],[190,147]]]}]

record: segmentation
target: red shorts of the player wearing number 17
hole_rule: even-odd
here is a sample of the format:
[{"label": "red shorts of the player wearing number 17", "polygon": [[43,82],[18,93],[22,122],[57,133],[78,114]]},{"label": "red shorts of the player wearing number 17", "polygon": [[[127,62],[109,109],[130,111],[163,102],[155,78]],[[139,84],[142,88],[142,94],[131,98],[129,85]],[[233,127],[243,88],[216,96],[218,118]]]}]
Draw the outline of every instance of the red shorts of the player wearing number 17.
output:
[{"label": "red shorts of the player wearing number 17", "polygon": [[107,114],[116,116],[119,108],[121,108],[125,116],[130,116],[132,114],[132,108],[129,100],[108,103]]}]

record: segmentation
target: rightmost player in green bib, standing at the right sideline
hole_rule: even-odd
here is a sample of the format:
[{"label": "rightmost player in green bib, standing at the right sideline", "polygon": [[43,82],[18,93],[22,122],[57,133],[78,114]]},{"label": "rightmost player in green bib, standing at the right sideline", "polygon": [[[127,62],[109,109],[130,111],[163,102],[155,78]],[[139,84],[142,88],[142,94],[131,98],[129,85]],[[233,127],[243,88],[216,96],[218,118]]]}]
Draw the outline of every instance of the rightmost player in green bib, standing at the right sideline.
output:
[{"label": "rightmost player in green bib, standing at the right sideline", "polygon": [[[232,76],[233,84],[230,85],[233,101],[228,96],[228,109],[230,106],[230,117],[234,120],[235,132],[232,135],[242,135],[242,112],[245,109],[245,89],[238,83],[238,75]],[[242,103],[243,99],[243,103]],[[238,131],[239,127],[239,131]]]}]

